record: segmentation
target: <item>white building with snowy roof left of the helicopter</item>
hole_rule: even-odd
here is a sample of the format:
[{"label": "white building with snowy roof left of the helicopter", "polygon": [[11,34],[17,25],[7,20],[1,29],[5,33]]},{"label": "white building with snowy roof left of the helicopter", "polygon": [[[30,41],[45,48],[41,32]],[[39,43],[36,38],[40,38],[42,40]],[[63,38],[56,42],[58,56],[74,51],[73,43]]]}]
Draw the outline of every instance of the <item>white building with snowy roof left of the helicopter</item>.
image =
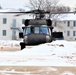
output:
[{"label": "white building with snowy roof left of the helicopter", "polygon": [[[0,12],[16,12],[15,9],[0,10]],[[15,14],[0,14],[0,40],[18,40],[22,32],[24,19],[32,18],[29,15],[15,16]]]}]

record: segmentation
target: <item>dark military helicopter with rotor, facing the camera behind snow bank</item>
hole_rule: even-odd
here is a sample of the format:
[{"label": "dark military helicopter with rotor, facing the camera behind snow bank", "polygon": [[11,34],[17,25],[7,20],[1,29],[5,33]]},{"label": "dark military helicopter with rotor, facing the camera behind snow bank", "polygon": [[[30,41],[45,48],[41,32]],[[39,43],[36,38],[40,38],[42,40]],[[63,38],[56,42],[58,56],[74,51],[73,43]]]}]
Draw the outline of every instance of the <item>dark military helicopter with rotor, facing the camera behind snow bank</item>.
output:
[{"label": "dark military helicopter with rotor, facing the camera behind snow bank", "polygon": [[[0,12],[2,13],[2,12]],[[19,37],[23,38],[23,42],[20,43],[21,50],[27,45],[38,45],[42,43],[52,42],[55,38],[63,38],[62,32],[52,32],[52,20],[45,19],[44,10],[32,10],[28,12],[3,12],[3,13],[13,13],[13,14],[35,14],[35,19],[26,19],[24,22],[24,27],[22,27],[23,32],[19,33]],[[19,15],[20,15],[19,14]],[[18,16],[18,15],[16,15]]]}]

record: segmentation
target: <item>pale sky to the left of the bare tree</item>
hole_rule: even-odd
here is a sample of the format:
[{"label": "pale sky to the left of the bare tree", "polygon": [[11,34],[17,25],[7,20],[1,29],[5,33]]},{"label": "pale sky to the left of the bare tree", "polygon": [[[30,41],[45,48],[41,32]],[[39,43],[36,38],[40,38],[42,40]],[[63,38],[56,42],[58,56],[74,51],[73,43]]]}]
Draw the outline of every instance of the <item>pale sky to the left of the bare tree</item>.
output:
[{"label": "pale sky to the left of the bare tree", "polygon": [[25,4],[28,4],[28,0],[0,0],[3,8],[25,8]]}]

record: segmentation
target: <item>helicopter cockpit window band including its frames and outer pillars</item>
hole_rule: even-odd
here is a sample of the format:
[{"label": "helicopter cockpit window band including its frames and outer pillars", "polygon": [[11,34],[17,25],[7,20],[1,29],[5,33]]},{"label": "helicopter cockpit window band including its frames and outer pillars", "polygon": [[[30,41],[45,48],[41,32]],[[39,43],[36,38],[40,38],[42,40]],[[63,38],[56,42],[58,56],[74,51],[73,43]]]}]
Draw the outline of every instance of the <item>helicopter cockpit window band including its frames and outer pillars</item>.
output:
[{"label": "helicopter cockpit window band including its frames and outer pillars", "polygon": [[45,25],[35,26],[35,27],[28,26],[25,28],[24,34],[25,35],[29,35],[29,34],[45,34],[45,35],[50,34],[51,35],[51,32],[50,32],[50,29]]}]

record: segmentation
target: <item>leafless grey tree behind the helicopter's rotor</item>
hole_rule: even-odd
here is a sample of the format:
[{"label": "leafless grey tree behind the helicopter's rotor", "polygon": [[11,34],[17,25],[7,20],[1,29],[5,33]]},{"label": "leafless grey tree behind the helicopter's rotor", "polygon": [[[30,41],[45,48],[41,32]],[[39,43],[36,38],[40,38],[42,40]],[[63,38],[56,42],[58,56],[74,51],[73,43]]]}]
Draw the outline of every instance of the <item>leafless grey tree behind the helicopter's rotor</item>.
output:
[{"label": "leafless grey tree behind the helicopter's rotor", "polygon": [[58,6],[60,0],[29,0],[28,8],[31,10],[40,9],[49,11],[48,18],[58,18],[60,14],[51,14],[51,12],[70,11],[70,7]]}]

